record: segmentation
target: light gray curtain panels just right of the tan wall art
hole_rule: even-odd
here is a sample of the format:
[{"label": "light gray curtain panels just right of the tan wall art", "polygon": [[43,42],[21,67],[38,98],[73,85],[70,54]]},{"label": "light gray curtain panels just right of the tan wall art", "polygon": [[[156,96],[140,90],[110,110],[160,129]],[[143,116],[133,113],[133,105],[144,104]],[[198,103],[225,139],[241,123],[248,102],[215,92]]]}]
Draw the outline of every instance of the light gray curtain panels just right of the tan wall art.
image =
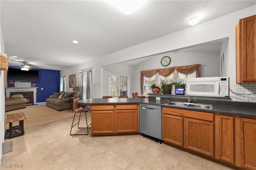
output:
[{"label": "light gray curtain panels just right of the tan wall art", "polygon": [[81,98],[91,98],[92,71],[81,72]]}]

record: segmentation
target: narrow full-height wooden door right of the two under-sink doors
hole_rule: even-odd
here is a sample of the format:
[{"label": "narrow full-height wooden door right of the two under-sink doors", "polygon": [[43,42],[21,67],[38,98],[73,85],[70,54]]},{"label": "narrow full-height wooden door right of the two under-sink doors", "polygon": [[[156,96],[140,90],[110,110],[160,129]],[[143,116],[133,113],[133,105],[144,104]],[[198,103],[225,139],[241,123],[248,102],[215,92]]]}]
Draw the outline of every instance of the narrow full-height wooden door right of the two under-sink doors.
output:
[{"label": "narrow full-height wooden door right of the two under-sink doors", "polygon": [[216,115],[217,158],[234,163],[234,117]]}]

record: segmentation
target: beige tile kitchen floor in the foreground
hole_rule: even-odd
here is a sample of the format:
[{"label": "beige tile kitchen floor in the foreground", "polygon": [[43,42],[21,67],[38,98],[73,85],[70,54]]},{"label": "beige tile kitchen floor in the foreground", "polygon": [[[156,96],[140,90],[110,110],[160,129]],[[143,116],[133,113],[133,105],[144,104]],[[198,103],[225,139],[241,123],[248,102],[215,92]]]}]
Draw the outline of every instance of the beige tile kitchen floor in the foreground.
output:
[{"label": "beige tile kitchen floor in the foreground", "polygon": [[23,136],[6,139],[13,150],[2,155],[0,169],[232,170],[141,135],[70,136],[72,119],[28,126]]}]

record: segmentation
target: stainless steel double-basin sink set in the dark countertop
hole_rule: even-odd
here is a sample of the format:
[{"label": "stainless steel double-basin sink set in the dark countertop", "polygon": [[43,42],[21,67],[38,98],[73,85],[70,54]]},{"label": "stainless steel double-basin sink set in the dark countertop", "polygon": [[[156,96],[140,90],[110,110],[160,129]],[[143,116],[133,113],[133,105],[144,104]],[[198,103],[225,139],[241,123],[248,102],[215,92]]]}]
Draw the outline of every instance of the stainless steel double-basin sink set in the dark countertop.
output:
[{"label": "stainless steel double-basin sink set in the dark countertop", "polygon": [[194,107],[198,109],[212,109],[211,104],[199,104],[199,103],[188,103],[188,102],[174,102],[170,101],[167,102],[165,105],[168,106],[177,106],[177,107]]}]

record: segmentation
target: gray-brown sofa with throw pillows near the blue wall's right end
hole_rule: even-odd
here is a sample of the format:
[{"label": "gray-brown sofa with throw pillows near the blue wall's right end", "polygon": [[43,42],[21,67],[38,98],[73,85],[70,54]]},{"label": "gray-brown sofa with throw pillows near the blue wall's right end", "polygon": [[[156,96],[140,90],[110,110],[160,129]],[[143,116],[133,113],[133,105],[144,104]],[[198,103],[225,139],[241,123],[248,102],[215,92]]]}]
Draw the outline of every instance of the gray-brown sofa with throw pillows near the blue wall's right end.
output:
[{"label": "gray-brown sofa with throw pillows near the blue wall's right end", "polygon": [[[58,111],[69,109],[71,100],[75,92],[59,92],[54,93],[50,98],[46,99],[46,106],[56,109]],[[62,96],[60,96],[62,95]]]}]

